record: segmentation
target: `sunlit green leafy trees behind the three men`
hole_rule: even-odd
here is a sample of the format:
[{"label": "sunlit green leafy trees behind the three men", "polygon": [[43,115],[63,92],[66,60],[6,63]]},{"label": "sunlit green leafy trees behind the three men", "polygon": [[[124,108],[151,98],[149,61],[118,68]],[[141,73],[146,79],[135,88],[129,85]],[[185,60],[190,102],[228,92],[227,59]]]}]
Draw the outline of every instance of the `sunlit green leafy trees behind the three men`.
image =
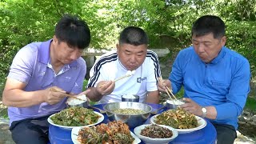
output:
[{"label": "sunlit green leafy trees behind the three men", "polygon": [[4,0],[0,2],[0,78],[22,46],[53,37],[63,14],[77,14],[90,26],[90,47],[114,47],[126,26],[140,26],[149,34],[151,48],[168,48],[170,57],[190,46],[190,29],[204,14],[226,22],[226,46],[250,61],[256,74],[256,1],[254,0]]}]

